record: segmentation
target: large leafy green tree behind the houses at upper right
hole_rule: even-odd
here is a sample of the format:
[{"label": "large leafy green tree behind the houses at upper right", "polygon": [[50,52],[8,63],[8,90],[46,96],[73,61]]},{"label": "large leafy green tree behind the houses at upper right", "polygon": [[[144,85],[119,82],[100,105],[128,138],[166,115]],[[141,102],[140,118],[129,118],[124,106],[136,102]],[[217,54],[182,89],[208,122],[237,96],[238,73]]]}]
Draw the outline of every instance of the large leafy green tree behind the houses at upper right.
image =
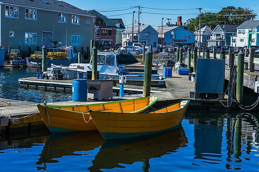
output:
[{"label": "large leafy green tree behind the houses at upper right", "polygon": [[[243,14],[252,14],[247,16],[240,16]],[[239,15],[239,16],[226,16],[226,15]],[[195,26],[204,27],[204,26],[210,26],[211,28],[215,28],[218,24],[237,24],[240,25],[244,21],[251,20],[252,17],[256,18],[257,14],[253,13],[253,10],[249,8],[241,8],[241,7],[234,7],[234,6],[227,6],[223,7],[219,12],[217,13],[211,13],[211,12],[205,12],[201,13],[201,19],[199,22],[199,16],[196,17],[196,19],[192,20],[190,24],[188,24],[189,31],[194,32]]]}]

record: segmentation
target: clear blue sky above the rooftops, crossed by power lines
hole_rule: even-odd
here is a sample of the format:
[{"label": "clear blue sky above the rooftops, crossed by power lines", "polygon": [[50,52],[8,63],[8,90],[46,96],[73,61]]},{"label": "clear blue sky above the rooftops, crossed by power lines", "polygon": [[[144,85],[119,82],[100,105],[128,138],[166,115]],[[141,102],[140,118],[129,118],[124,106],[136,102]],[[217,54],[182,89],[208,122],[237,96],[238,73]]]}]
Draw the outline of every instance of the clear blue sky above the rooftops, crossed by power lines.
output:
[{"label": "clear blue sky above the rooftops, crossed by power lines", "polygon": [[[240,6],[242,8],[251,8],[254,9],[254,13],[259,14],[259,4],[258,0],[217,0],[217,1],[204,1],[204,0],[184,0],[184,1],[172,1],[172,0],[130,0],[130,1],[122,1],[122,0],[63,0],[65,2],[68,2],[78,8],[84,9],[84,10],[90,10],[95,9],[97,11],[109,11],[109,10],[118,10],[125,9],[122,7],[131,7],[131,6],[142,6],[147,8],[159,8],[159,9],[195,9],[195,8],[207,8],[207,9],[221,9],[223,6],[228,5],[234,5],[236,7]],[[195,2],[195,3],[194,3]],[[212,3],[211,3],[212,2]],[[118,8],[118,9],[110,9],[110,8]],[[167,22],[165,18],[172,19],[171,22],[173,24],[175,21],[177,21],[177,16],[182,16],[182,21],[186,21],[189,18],[195,18],[197,15],[196,13],[199,13],[198,9],[195,10],[154,10],[154,9],[147,9],[142,8],[142,12],[148,12],[148,13],[166,13],[167,15],[161,15],[161,14],[148,14],[148,13],[142,13],[140,15],[140,23],[144,24],[150,24],[150,25],[161,25],[162,17],[164,18],[163,24]],[[122,18],[125,25],[131,25],[132,24],[132,12],[138,11],[137,8],[135,9],[128,9],[123,11],[114,11],[114,12],[100,12],[103,15],[106,15],[109,18]],[[205,11],[211,11],[211,12],[217,12],[215,10],[205,10],[202,9],[201,12]],[[131,13],[127,15],[120,15],[120,16],[109,16],[109,15],[118,15],[118,14],[125,14],[125,13]],[[177,15],[169,15],[169,14],[177,14]],[[180,15],[181,14],[181,15]],[[183,14],[190,14],[190,15],[183,15]],[[258,16],[259,17],[259,16]],[[257,17],[257,18],[258,18]],[[134,14],[134,20],[138,21],[138,15],[137,13]],[[259,20],[256,19],[256,20]],[[127,26],[126,26],[127,28]]]}]

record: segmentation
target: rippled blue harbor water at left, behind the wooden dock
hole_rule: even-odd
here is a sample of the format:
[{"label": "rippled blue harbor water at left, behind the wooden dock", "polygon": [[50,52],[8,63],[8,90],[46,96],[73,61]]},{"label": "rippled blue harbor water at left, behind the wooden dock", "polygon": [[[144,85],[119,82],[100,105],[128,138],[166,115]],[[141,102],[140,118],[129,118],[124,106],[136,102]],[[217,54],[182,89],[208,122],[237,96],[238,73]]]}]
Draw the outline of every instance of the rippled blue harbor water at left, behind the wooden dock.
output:
[{"label": "rippled blue harbor water at left, behind the wooden dock", "polygon": [[0,98],[42,103],[70,101],[72,91],[45,91],[20,88],[19,78],[36,77],[41,68],[0,68]]}]

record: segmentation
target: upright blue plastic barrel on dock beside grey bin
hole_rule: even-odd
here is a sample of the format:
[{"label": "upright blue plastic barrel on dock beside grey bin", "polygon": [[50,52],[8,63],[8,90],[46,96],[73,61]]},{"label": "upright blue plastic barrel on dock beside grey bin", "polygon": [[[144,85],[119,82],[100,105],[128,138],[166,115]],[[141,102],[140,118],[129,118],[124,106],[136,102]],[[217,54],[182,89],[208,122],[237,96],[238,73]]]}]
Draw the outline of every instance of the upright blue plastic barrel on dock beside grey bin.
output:
[{"label": "upright blue plastic barrel on dock beside grey bin", "polygon": [[87,79],[74,79],[72,83],[73,101],[87,100]]}]

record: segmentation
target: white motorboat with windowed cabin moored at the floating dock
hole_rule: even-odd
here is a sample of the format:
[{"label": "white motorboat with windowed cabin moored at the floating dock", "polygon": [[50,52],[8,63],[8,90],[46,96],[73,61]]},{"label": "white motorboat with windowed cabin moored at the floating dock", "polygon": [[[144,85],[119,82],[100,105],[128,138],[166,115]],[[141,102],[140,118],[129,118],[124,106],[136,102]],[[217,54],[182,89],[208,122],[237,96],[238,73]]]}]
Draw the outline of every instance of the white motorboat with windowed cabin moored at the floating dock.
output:
[{"label": "white motorboat with windowed cabin moored at the floating dock", "polygon": [[[92,58],[90,59],[90,63],[74,63],[70,64],[69,67],[52,65],[52,67],[66,68],[69,71],[76,71],[77,73],[83,75],[85,74],[85,76],[87,76],[87,73],[92,73]],[[144,79],[144,73],[133,73],[129,71],[123,71],[121,68],[119,68],[117,65],[117,55],[111,52],[97,53],[97,71],[99,72],[99,79],[119,79],[120,75],[125,75],[127,79]],[[160,75],[152,74],[151,79],[159,80]]]}]

